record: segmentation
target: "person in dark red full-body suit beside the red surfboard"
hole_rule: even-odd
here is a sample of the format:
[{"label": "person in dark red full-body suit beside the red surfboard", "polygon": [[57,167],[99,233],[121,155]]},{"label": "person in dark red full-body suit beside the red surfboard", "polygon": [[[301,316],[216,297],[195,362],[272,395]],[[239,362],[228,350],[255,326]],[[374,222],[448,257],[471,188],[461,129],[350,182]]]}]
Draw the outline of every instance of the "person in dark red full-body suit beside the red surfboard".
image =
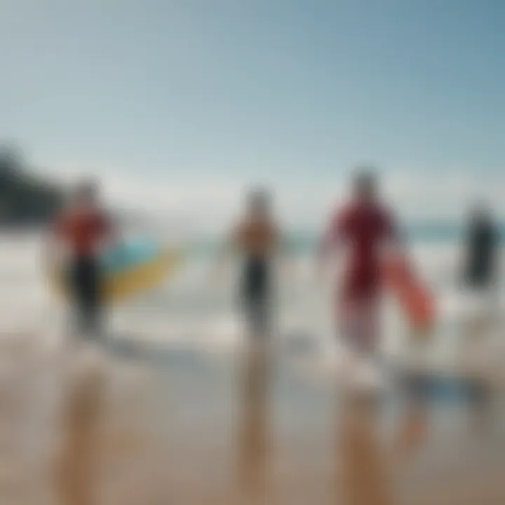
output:
[{"label": "person in dark red full-body suit beside the red surfboard", "polygon": [[335,248],[345,249],[337,282],[337,325],[344,342],[359,354],[374,354],[379,344],[379,296],[384,246],[398,234],[391,211],[379,198],[377,177],[359,170],[351,200],[337,208],[320,248],[320,267]]}]

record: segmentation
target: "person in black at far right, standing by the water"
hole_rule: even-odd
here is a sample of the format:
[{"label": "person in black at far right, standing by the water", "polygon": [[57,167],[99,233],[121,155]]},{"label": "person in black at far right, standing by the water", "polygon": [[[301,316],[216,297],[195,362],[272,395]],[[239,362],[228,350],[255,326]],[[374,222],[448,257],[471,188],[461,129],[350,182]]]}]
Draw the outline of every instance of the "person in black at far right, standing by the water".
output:
[{"label": "person in black at far right, standing by the water", "polygon": [[482,330],[496,308],[498,247],[499,230],[490,210],[482,204],[474,206],[467,227],[462,271],[462,284],[473,304],[481,309],[472,321],[471,332]]}]

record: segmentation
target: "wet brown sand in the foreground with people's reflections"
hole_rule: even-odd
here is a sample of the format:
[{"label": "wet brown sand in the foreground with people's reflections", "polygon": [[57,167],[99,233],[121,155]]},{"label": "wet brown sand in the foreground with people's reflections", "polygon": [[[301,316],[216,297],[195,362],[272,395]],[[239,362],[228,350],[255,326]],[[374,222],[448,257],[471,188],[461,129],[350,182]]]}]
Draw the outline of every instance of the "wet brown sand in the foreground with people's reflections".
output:
[{"label": "wet brown sand in the foreground with people's reflections", "polygon": [[1,504],[505,503],[497,414],[431,416],[398,457],[397,423],[264,349],[1,346]]}]

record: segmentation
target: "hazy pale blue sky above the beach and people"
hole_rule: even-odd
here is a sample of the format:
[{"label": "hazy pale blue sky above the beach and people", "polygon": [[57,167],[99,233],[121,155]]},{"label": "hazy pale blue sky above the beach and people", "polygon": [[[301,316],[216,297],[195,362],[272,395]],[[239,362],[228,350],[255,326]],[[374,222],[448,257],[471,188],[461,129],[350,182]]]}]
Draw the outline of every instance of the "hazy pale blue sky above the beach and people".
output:
[{"label": "hazy pale blue sky above the beach and people", "polygon": [[501,0],[3,0],[0,136],[160,201],[216,178],[299,208],[361,161],[500,201],[504,26]]}]

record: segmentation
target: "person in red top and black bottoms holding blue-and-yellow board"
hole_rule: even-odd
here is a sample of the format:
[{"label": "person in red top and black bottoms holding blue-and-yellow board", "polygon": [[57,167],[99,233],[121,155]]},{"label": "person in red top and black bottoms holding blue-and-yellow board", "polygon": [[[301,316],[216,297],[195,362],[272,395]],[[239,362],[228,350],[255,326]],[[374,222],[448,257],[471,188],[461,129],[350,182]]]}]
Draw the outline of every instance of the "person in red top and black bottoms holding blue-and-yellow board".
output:
[{"label": "person in red top and black bottoms holding blue-and-yellow board", "polygon": [[63,252],[68,265],[68,293],[77,330],[97,337],[102,332],[103,309],[98,255],[115,234],[97,182],[83,181],[76,187],[50,231],[52,252]]}]

